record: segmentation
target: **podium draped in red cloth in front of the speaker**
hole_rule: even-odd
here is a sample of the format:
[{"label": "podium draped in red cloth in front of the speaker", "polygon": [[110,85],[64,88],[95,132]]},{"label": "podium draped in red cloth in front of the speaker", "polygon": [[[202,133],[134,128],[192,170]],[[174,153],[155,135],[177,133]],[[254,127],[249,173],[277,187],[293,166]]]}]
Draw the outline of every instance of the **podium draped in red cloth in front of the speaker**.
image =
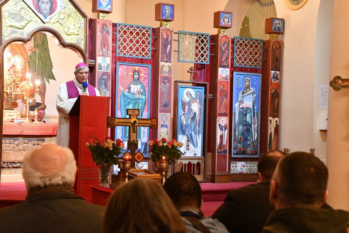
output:
[{"label": "podium draped in red cloth in front of the speaker", "polygon": [[91,202],[91,185],[99,185],[98,168],[85,145],[93,137],[108,135],[110,97],[80,95],[69,112],[69,148],[75,155],[77,196]]}]

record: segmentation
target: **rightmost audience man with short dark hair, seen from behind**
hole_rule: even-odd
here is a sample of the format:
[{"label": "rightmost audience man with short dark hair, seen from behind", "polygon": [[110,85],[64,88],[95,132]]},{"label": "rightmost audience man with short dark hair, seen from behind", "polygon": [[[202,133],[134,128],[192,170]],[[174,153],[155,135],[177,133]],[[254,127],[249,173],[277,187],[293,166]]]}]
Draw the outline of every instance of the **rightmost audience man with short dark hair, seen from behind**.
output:
[{"label": "rightmost audience man with short dark hair, seen from behind", "polygon": [[312,154],[285,155],[270,182],[270,214],[263,232],[347,232],[348,212],[320,209],[325,203],[328,171]]}]

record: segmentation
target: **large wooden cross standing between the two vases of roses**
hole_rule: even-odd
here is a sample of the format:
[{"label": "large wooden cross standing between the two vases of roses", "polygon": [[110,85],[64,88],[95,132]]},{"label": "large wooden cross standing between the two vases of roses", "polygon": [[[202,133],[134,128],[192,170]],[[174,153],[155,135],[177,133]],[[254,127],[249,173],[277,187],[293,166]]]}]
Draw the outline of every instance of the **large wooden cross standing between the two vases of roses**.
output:
[{"label": "large wooden cross standing between the two vases of roses", "polygon": [[[128,118],[107,117],[107,127],[115,128],[115,126],[129,126],[128,127],[128,140],[127,149],[131,150],[131,166],[134,168],[136,149],[138,149],[137,140],[137,127],[150,127],[151,129],[157,128],[157,118],[137,118],[139,115],[139,109],[126,109]],[[141,153],[138,151],[138,153]],[[137,154],[138,154],[137,153]]]}]

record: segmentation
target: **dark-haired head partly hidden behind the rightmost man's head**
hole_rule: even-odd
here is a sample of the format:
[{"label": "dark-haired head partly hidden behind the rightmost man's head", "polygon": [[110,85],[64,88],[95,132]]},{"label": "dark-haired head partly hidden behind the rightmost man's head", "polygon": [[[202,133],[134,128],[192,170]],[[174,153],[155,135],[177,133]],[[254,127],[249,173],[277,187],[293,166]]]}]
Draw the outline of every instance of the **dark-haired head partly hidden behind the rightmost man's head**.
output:
[{"label": "dark-haired head partly hidden behind the rightmost man's head", "polygon": [[263,154],[258,163],[259,182],[270,181],[273,177],[277,162],[285,155],[282,151],[268,151]]}]

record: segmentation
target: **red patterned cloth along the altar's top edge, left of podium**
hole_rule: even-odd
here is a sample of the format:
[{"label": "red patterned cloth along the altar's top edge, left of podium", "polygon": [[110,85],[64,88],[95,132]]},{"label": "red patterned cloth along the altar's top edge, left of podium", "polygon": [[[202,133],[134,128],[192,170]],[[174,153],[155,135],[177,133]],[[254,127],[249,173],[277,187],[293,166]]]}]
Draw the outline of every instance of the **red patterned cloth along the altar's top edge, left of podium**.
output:
[{"label": "red patterned cloth along the altar's top edge, left of podium", "polygon": [[3,122],[2,134],[57,135],[58,123]]}]

